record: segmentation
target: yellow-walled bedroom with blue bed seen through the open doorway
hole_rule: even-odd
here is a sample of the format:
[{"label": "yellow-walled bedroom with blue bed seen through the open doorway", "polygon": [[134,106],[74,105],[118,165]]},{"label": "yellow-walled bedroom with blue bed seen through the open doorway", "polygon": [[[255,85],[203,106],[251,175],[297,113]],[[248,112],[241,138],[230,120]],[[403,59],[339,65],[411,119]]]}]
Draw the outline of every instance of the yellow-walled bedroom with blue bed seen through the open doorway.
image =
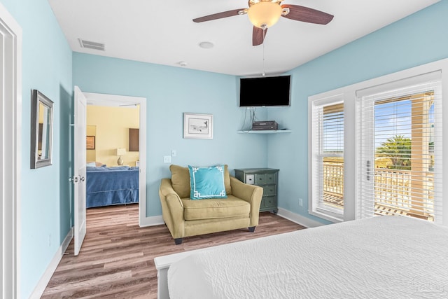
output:
[{"label": "yellow-walled bedroom with blue bed seen through the open doorway", "polygon": [[[87,105],[87,212],[90,208],[139,202],[139,148],[136,145],[139,144],[140,106],[112,104]],[[134,220],[132,224],[137,224],[138,218]]]}]

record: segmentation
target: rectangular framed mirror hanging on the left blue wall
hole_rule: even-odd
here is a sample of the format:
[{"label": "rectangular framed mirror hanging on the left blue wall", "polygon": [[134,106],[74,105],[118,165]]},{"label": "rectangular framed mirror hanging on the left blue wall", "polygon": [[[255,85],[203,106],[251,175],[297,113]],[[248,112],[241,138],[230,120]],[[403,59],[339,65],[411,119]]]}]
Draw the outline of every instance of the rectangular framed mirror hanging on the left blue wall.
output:
[{"label": "rectangular framed mirror hanging on the left blue wall", "polygon": [[51,165],[53,102],[38,90],[31,92],[31,169]]}]

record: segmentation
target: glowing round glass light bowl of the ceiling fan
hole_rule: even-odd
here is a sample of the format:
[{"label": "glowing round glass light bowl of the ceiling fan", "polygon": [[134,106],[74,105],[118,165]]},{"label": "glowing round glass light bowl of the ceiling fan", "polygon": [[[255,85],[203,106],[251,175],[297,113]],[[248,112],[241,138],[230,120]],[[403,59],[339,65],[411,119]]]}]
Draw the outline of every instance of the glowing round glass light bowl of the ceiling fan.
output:
[{"label": "glowing round glass light bowl of the ceiling fan", "polygon": [[262,1],[248,8],[248,18],[253,26],[269,28],[281,17],[282,9],[278,3]]}]

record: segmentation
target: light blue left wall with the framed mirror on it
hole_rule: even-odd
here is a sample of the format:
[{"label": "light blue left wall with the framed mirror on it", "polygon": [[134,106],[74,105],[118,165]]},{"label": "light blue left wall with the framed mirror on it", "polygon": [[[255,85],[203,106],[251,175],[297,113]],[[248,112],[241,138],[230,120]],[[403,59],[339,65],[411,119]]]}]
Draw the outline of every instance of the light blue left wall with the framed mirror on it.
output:
[{"label": "light blue left wall with the framed mirror on it", "polygon": [[[28,298],[71,228],[72,52],[46,0],[1,0],[22,27],[20,293]],[[30,169],[31,89],[54,104],[53,162]]]}]

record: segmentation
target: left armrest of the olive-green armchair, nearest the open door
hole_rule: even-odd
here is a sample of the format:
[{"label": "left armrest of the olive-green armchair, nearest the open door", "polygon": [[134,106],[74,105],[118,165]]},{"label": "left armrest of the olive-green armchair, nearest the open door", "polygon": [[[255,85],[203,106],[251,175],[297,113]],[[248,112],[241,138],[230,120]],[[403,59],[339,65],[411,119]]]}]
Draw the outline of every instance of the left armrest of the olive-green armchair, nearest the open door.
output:
[{"label": "left armrest of the olive-green armchair, nearest the open door", "polygon": [[171,179],[162,179],[159,197],[162,204],[163,221],[165,221],[175,239],[183,237],[185,222],[183,218],[183,204],[181,198],[173,189]]}]

